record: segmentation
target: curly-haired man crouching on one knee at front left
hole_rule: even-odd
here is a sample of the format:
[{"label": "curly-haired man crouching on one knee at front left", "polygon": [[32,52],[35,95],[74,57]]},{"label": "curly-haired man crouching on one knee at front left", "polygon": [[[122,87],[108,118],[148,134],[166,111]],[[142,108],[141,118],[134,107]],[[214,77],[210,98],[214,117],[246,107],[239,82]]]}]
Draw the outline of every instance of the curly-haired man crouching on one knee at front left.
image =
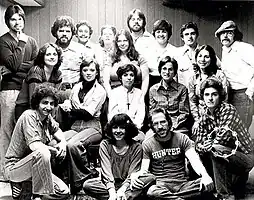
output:
[{"label": "curly-haired man crouching on one knee at front left", "polygon": [[[32,109],[19,117],[6,153],[5,173],[11,181],[13,198],[21,193],[21,183],[32,181],[33,199],[65,198],[67,185],[52,173],[66,155],[66,141],[51,113],[58,104],[56,89],[42,84],[31,99]],[[54,162],[52,162],[54,159]]]}]

